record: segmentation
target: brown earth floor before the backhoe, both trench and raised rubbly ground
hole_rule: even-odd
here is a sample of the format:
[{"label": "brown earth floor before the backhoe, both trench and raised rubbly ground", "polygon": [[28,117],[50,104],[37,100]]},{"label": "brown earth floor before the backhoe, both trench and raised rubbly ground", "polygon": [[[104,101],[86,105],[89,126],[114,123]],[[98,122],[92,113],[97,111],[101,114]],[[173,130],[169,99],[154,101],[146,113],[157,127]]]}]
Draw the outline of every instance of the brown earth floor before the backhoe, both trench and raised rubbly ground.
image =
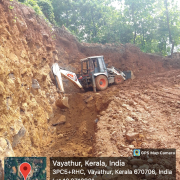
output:
[{"label": "brown earth floor before the backhoe, both trench and raised rubbly ground", "polygon": [[[73,94],[70,107],[54,112],[67,115],[67,122],[56,127],[56,139],[52,136],[45,149],[49,156],[127,157],[133,148],[176,148],[179,173],[180,70],[129,80],[97,94]],[[136,137],[128,141],[131,133]]]}]

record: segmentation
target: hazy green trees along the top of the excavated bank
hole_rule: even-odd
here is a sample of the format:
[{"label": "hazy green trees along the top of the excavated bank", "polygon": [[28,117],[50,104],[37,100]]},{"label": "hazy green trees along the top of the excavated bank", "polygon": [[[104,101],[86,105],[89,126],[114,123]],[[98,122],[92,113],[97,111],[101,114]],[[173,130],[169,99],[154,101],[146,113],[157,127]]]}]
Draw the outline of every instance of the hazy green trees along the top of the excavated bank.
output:
[{"label": "hazy green trees along the top of the excavated bank", "polygon": [[[180,44],[180,10],[175,0],[24,1],[80,41],[133,43],[143,52],[161,55],[173,53]],[[114,2],[118,8],[112,6]]]}]

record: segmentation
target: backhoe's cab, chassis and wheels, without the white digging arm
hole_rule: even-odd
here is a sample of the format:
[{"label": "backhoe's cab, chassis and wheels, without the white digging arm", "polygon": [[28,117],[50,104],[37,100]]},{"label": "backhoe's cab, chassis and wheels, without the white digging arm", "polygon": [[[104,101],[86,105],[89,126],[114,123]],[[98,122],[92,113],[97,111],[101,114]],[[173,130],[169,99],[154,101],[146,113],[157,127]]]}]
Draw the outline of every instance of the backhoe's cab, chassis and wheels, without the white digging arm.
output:
[{"label": "backhoe's cab, chassis and wheels, without the white digging arm", "polygon": [[103,56],[92,56],[81,59],[81,74],[78,77],[84,89],[93,87],[99,91],[105,90],[109,84],[120,84],[125,80],[125,74],[114,67],[107,68]]}]

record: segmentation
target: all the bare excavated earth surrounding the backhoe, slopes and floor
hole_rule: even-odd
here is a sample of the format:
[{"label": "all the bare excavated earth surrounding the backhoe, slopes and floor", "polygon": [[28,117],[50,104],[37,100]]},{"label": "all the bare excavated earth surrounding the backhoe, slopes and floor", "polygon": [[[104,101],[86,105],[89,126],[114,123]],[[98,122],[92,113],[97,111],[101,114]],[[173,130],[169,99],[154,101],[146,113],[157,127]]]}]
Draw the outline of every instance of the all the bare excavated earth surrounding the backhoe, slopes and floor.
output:
[{"label": "all the bare excavated earth surrounding the backhoe, slopes and floor", "polygon": [[[80,91],[64,80],[70,108],[55,107],[52,63],[77,73],[79,60],[94,55],[132,70],[136,78],[98,93]],[[31,8],[1,0],[0,62],[1,160],[129,156],[134,147],[176,148],[179,158],[179,59],[144,54],[130,44],[81,44]],[[137,133],[130,142],[129,131]]]}]

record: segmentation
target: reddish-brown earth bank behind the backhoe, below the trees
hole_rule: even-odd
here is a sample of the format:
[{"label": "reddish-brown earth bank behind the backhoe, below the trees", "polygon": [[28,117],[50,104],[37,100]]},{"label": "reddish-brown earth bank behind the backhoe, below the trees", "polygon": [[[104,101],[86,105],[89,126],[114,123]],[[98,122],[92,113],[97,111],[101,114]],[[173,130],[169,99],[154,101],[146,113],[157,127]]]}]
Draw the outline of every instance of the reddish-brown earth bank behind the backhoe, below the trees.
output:
[{"label": "reddish-brown earth bank behind the backhoe, below the trees", "polygon": [[[177,57],[173,59],[154,54],[146,54],[132,44],[88,44],[79,43],[65,28],[56,28],[56,48],[63,48],[58,53],[59,63],[76,73],[80,71],[80,59],[89,56],[103,55],[109,66],[121,70],[132,70],[135,76],[159,73],[172,68],[180,68]],[[62,50],[61,50],[62,52]],[[68,60],[67,60],[68,59]],[[65,65],[68,61],[68,65]],[[63,64],[64,63],[64,64]]]}]

